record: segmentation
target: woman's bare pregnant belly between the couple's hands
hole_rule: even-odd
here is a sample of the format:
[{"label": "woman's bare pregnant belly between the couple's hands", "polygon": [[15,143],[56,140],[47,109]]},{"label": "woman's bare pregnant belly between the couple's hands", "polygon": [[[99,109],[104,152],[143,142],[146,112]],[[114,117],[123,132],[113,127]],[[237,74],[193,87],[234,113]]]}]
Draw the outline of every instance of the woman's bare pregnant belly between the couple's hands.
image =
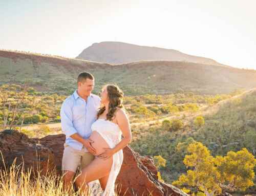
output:
[{"label": "woman's bare pregnant belly between the couple's hands", "polygon": [[90,139],[94,141],[94,143],[92,143],[92,146],[96,150],[96,156],[100,155],[101,153],[103,153],[103,151],[105,151],[103,148],[110,147],[109,144],[106,143],[102,136],[96,131],[92,132]]}]

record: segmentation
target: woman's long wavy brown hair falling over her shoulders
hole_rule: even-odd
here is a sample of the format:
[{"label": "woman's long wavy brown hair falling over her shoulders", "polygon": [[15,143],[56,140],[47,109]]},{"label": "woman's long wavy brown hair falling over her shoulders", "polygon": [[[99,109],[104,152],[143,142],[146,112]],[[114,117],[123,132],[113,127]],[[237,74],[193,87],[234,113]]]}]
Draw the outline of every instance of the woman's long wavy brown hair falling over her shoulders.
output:
[{"label": "woman's long wavy brown hair falling over her shoulders", "polygon": [[[103,88],[105,88],[105,86],[106,86],[106,90],[108,91],[108,97],[109,97],[109,100],[110,100],[109,111],[108,111],[108,114],[106,114],[106,120],[112,121],[112,118],[113,118],[117,108],[118,107],[119,108],[124,108],[124,106],[123,106],[123,92],[115,84],[106,84],[106,85],[103,86]],[[99,116],[104,111],[105,111],[105,106],[100,107],[99,111],[97,113],[97,118],[99,118]]]}]

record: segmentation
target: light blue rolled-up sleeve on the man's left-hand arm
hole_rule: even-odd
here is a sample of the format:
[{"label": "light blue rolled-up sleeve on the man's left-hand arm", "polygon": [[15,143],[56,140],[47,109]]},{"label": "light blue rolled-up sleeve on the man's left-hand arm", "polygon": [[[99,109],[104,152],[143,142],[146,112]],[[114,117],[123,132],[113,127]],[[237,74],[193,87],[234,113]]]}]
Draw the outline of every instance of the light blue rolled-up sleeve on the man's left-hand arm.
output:
[{"label": "light blue rolled-up sleeve on the man's left-hand arm", "polygon": [[72,104],[68,100],[65,100],[61,105],[60,121],[62,132],[65,133],[66,137],[70,137],[77,133],[77,130],[73,125]]}]

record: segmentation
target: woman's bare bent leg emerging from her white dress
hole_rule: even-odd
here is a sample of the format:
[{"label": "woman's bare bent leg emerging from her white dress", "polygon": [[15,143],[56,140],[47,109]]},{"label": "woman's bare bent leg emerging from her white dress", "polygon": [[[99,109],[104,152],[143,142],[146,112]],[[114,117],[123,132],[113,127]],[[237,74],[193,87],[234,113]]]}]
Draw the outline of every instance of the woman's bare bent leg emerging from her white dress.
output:
[{"label": "woman's bare bent leg emerging from her white dress", "polygon": [[86,191],[87,183],[108,176],[112,167],[113,157],[103,160],[98,157],[82,169],[81,174],[76,178],[77,188]]}]

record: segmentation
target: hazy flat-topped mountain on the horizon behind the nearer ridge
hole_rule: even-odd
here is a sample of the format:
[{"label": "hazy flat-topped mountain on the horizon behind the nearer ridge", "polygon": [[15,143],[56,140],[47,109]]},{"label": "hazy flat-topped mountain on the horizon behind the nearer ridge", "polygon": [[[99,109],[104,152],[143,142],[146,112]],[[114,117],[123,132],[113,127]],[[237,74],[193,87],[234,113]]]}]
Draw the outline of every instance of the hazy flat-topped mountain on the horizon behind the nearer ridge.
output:
[{"label": "hazy flat-topped mountain on the horizon behind the nearer ridge", "polygon": [[110,64],[143,60],[170,60],[228,67],[210,58],[192,56],[177,50],[138,46],[115,41],[93,43],[92,46],[84,49],[76,58]]}]

